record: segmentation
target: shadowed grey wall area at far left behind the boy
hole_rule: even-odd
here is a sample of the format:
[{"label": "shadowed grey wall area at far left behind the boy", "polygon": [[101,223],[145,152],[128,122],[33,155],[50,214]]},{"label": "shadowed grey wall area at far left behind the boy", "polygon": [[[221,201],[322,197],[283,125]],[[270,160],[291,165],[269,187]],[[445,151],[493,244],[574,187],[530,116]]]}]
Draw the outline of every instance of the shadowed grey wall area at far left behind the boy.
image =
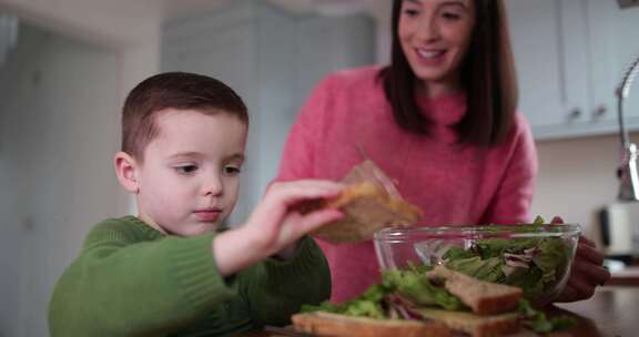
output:
[{"label": "shadowed grey wall area at far left behind the boy", "polygon": [[48,336],[54,283],[88,229],[119,215],[120,61],[33,28],[17,53],[0,80],[0,336]]}]

